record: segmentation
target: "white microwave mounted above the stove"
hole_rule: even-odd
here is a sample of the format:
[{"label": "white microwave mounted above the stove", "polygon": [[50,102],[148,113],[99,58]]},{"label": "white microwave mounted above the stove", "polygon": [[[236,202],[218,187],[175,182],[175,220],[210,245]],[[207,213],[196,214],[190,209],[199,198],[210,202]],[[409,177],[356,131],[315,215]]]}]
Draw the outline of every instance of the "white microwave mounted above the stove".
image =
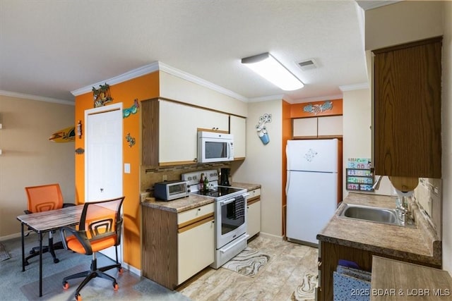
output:
[{"label": "white microwave mounted above the stove", "polygon": [[234,160],[234,135],[198,131],[198,163]]}]

